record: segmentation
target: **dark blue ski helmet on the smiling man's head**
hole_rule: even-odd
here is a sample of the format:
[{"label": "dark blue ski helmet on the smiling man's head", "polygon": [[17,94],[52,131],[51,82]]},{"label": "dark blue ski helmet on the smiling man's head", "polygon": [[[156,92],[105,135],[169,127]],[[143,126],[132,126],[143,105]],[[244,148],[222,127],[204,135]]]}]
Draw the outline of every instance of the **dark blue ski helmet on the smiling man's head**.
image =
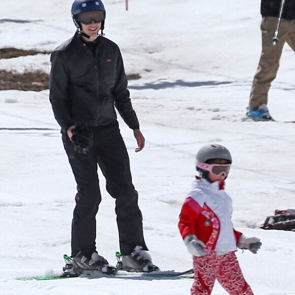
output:
[{"label": "dark blue ski helmet on the smiling man's head", "polygon": [[[82,12],[88,12],[88,11],[95,11],[95,10],[102,10],[105,15],[105,8],[101,0],[75,0],[71,13],[73,21],[79,31],[81,31],[81,24],[78,21],[78,15]],[[104,19],[101,22],[101,32],[104,30]]]}]

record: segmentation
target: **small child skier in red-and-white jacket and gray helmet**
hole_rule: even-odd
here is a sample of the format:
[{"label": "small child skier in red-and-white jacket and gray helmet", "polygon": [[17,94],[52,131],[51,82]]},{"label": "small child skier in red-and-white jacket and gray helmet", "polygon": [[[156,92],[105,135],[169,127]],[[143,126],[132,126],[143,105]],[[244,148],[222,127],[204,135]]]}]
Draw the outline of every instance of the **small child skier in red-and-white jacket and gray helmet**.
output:
[{"label": "small child skier in red-and-white jacket and gray helmet", "polygon": [[197,153],[196,177],[182,206],[179,229],[193,255],[191,294],[211,294],[215,279],[231,295],[253,295],[234,252],[237,246],[256,254],[260,239],[246,238],[232,227],[232,200],[224,191],[231,156],[220,144],[203,146]]}]

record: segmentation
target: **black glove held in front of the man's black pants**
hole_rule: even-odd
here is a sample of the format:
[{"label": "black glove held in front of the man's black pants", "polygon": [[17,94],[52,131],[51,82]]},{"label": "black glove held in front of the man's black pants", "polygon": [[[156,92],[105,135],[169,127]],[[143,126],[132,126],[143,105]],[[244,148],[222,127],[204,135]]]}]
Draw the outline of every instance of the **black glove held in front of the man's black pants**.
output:
[{"label": "black glove held in front of the man's black pants", "polygon": [[74,144],[74,150],[78,154],[87,154],[93,144],[93,132],[91,127],[87,124],[76,124],[72,130],[73,136],[71,138]]}]

